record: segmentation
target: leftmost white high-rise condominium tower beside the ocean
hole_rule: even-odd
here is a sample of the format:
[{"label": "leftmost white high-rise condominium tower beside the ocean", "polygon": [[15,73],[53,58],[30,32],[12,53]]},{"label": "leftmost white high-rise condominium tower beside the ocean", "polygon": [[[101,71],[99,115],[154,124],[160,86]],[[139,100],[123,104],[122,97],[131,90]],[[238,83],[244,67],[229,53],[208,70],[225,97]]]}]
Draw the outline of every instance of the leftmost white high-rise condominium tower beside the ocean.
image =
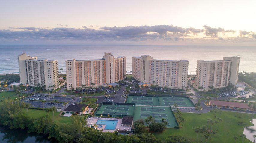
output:
[{"label": "leftmost white high-rise condominium tower beside the ocean", "polygon": [[45,86],[46,90],[58,88],[58,60],[37,60],[37,57],[23,53],[18,56],[18,61],[20,83]]}]

